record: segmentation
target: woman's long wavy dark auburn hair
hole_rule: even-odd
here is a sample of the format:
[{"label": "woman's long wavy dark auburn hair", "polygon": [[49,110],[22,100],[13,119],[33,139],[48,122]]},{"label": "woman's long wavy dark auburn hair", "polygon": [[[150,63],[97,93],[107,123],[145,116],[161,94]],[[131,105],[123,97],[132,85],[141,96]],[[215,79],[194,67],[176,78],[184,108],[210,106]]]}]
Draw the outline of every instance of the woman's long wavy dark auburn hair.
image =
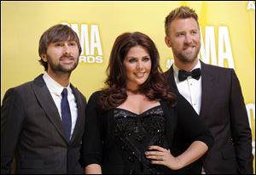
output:
[{"label": "woman's long wavy dark auburn hair", "polygon": [[167,87],[166,79],[160,69],[160,55],[154,42],[141,32],[126,32],[116,38],[110,54],[107,69],[106,88],[102,89],[100,105],[102,110],[109,110],[125,102],[126,75],[123,65],[129,50],[135,46],[142,46],[151,59],[151,71],[146,82],[138,92],[145,94],[149,100],[166,99],[169,104],[176,103],[176,96]]}]

